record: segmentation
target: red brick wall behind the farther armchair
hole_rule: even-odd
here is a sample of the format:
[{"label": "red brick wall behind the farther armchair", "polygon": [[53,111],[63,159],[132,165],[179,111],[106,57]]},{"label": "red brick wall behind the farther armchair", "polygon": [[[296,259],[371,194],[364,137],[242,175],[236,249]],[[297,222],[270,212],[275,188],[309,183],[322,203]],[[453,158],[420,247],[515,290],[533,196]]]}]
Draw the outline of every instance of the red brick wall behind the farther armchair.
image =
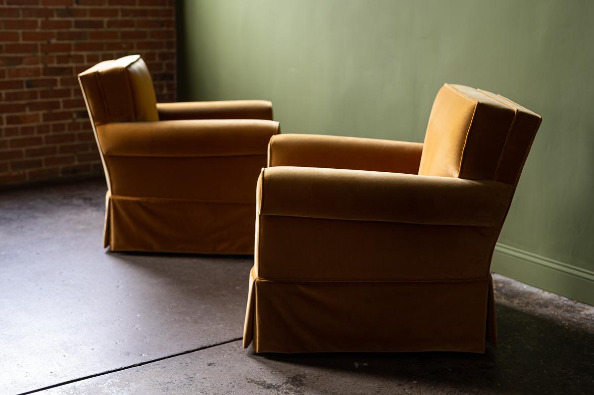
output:
[{"label": "red brick wall behind the farther armchair", "polygon": [[76,75],[134,53],[175,100],[174,0],[0,0],[0,185],[103,172]]}]

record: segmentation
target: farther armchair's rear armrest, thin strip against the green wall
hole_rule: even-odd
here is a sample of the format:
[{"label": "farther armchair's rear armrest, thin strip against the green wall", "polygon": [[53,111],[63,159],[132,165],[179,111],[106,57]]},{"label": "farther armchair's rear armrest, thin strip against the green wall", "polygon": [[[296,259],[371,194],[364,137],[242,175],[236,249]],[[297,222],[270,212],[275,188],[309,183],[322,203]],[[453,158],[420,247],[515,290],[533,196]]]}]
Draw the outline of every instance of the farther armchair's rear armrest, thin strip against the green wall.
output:
[{"label": "farther armchair's rear armrest, thin strip against the green wall", "polygon": [[267,100],[157,103],[160,121],[174,119],[272,119]]}]

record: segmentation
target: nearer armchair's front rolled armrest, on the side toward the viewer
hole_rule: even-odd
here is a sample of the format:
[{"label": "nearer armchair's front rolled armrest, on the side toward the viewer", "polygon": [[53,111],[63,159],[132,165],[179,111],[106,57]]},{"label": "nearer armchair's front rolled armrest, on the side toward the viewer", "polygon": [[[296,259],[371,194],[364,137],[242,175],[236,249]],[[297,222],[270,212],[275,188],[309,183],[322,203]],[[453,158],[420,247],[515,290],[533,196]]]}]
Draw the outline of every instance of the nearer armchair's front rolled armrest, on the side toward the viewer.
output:
[{"label": "nearer armchair's front rolled armrest, on the side toward the viewer", "polygon": [[512,191],[495,181],[281,166],[263,169],[257,204],[263,216],[498,226]]}]

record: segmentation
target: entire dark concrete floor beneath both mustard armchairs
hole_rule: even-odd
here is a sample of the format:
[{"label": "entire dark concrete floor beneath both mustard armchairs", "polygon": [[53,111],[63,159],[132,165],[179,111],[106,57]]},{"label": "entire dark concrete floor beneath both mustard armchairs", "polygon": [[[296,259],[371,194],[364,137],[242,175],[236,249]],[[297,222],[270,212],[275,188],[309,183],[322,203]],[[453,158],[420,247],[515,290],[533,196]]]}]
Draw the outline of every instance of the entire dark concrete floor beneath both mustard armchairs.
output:
[{"label": "entire dark concrete floor beneath both mustard armchairs", "polygon": [[485,355],[255,355],[252,257],[109,253],[104,194],[0,192],[0,394],[594,394],[594,307],[497,275]]}]

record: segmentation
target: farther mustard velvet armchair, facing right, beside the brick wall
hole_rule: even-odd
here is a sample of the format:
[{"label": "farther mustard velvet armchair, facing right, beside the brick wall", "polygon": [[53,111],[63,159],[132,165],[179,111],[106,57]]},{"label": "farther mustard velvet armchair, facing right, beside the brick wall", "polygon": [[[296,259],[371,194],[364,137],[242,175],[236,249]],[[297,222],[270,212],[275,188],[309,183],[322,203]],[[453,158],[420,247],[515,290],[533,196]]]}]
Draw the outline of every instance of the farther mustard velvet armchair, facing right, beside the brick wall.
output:
[{"label": "farther mustard velvet armchair, facing right, beside the brick wall", "polygon": [[78,80],[108,184],[105,247],[253,253],[255,184],[279,131],[270,102],[157,103],[138,55]]}]

